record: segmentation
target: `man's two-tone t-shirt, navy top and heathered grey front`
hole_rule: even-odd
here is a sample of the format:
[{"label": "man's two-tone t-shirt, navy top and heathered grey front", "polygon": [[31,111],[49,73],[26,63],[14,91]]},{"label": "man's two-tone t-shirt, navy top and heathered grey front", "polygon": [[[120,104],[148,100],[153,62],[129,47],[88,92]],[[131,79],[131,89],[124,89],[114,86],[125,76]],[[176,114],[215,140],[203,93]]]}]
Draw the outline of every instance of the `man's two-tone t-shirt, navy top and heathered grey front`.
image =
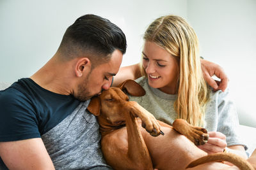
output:
[{"label": "man's two-tone t-shirt, navy top and heathered grey front", "polygon": [[[21,78],[0,90],[0,141],[42,138],[56,169],[106,169],[99,124],[86,110],[89,103]],[[7,169],[1,157],[0,169]]]}]

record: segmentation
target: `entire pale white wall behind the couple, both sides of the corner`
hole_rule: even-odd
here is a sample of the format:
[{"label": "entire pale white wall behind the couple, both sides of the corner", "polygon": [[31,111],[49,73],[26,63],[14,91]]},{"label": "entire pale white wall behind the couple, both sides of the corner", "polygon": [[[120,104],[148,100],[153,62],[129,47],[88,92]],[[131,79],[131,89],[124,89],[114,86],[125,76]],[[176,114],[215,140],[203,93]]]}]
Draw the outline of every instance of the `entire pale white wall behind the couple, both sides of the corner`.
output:
[{"label": "entire pale white wall behind the couple, both sides of the corner", "polygon": [[188,19],[202,55],[230,77],[241,123],[249,117],[256,126],[255,0],[0,0],[0,81],[35,73],[54,55],[67,27],[86,13],[109,18],[123,29],[128,48],[122,66],[139,62],[141,36],[152,20],[167,14]]}]

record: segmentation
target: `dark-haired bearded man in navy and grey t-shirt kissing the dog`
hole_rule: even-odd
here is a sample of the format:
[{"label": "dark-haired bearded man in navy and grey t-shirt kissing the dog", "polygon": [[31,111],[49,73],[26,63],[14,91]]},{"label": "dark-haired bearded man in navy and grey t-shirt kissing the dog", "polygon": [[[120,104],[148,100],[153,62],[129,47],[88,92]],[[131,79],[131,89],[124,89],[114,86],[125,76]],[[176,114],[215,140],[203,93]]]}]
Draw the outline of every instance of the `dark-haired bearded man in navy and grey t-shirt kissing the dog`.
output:
[{"label": "dark-haired bearded man in navy and grey t-shirt kissing the dog", "polygon": [[0,169],[109,169],[86,108],[111,86],[126,46],[115,24],[84,15],[45,66],[0,91]]}]

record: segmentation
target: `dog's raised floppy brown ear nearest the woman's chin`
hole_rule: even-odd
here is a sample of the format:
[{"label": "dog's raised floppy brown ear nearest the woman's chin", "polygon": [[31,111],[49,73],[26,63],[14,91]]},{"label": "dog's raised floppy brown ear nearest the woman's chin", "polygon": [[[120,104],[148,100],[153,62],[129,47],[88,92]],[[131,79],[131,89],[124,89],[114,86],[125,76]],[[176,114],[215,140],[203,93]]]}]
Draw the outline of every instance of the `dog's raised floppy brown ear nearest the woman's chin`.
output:
[{"label": "dog's raised floppy brown ear nearest the woman's chin", "polygon": [[144,96],[146,94],[143,87],[134,80],[125,80],[118,87],[124,92],[126,91],[128,94],[131,94],[131,96]]}]

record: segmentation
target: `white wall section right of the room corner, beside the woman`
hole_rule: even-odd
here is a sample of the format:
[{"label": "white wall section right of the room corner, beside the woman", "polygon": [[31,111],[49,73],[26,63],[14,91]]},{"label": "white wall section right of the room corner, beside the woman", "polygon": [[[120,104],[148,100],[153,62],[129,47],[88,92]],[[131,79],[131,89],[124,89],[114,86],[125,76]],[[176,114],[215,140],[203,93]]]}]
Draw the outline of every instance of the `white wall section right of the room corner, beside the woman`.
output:
[{"label": "white wall section right of the room corner, beside the woman", "polygon": [[188,19],[202,56],[228,74],[240,123],[256,127],[256,1],[188,0]]}]

